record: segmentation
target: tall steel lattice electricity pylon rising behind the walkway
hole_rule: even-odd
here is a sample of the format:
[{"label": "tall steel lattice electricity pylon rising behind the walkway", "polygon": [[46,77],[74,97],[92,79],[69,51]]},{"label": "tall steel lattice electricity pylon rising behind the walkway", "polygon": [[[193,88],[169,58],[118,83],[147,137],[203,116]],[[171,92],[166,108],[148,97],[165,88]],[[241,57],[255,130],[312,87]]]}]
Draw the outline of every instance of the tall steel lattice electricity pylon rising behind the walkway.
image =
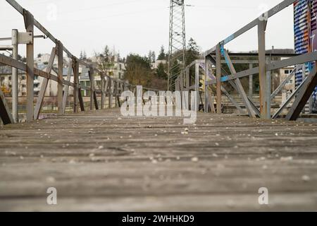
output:
[{"label": "tall steel lattice electricity pylon rising behind the walkway", "polygon": [[168,90],[173,90],[175,79],[182,76],[182,81],[184,81],[185,74],[186,33],[184,0],[170,0],[169,42]]}]

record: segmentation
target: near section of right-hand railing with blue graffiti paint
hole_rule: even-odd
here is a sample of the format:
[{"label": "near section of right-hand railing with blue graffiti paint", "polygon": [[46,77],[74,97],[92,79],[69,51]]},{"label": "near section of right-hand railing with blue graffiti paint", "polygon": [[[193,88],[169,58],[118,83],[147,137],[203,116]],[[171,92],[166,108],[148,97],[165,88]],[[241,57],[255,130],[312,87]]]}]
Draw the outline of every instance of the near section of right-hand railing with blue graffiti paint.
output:
[{"label": "near section of right-hand railing with blue graffiti paint", "polygon": [[[274,16],[276,13],[279,13],[283,9],[291,6],[297,0],[285,0],[282,1],[277,6],[271,8],[266,13],[263,13],[262,16],[252,20],[251,23],[245,25],[243,28],[233,33],[232,35],[225,38],[216,44],[215,47],[209,49],[204,53],[206,68],[205,71],[210,71],[209,64],[216,66],[216,78],[211,79],[211,81],[205,80],[206,89],[209,86],[216,85],[216,110],[215,112],[221,114],[221,95],[223,93],[223,83],[230,83],[232,87],[239,93],[244,102],[244,106],[247,109],[247,112],[250,117],[261,117],[263,119],[271,119],[278,117],[281,110],[285,108],[286,105],[282,105],[281,109],[278,110],[275,114],[271,114],[271,99],[272,99],[272,90],[271,90],[271,71],[276,69],[282,69],[287,66],[298,66],[307,62],[313,62],[313,69],[306,76],[306,79],[303,81],[302,85],[300,85],[297,90],[289,97],[287,103],[294,97],[294,103],[290,108],[290,111],[287,113],[286,119],[288,120],[296,120],[299,117],[299,114],[302,112],[302,109],[306,105],[306,102],[311,97],[314,88],[317,85],[317,76],[316,76],[316,60],[317,60],[317,52],[309,52],[307,54],[297,55],[290,57],[289,59],[284,59],[280,61],[271,61],[266,54],[266,25],[268,23],[268,19]],[[257,56],[259,58],[259,66],[245,70],[245,71],[235,71],[235,67],[232,64],[232,60],[230,59],[230,54],[228,54],[225,49],[225,44],[228,44],[235,38],[240,37],[245,32],[251,30],[252,28],[257,28],[258,30],[258,53]],[[223,75],[222,69],[222,58],[225,59],[225,64],[227,64],[230,74]],[[303,78],[305,78],[305,70],[303,71]],[[247,93],[244,91],[242,87],[242,83],[240,78],[244,78],[247,76],[253,76],[255,74],[259,74],[259,82],[260,82],[260,109],[258,109],[254,102],[248,97]],[[277,92],[274,92],[275,95]],[[205,94],[207,95],[207,93]],[[208,98],[205,97],[205,106],[208,106]],[[209,112],[209,108],[205,107],[205,111]]]}]

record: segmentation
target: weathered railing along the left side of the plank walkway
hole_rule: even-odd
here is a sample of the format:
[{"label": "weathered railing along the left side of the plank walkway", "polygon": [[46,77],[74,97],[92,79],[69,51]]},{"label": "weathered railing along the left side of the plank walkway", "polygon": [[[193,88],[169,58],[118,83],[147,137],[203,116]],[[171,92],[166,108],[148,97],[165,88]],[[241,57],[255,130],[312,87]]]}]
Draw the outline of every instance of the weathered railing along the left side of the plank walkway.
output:
[{"label": "weathered railing along the left side of the plank walkway", "polygon": [[[111,78],[103,71],[99,71],[92,66],[92,64],[88,64],[85,61],[82,61],[75,57],[73,54],[66,49],[63,43],[60,40],[57,40],[56,37],[51,35],[51,33],[46,30],[33,16],[32,13],[27,11],[25,8],[20,6],[14,0],[6,0],[8,4],[11,4],[13,8],[15,8],[19,13],[22,14],[25,22],[25,30],[26,32],[19,32],[19,44],[26,44],[27,52],[26,52],[26,64],[18,61],[18,59],[13,59],[12,57],[6,57],[3,54],[0,54],[0,63],[5,64],[7,66],[12,66],[15,69],[19,69],[21,71],[25,71],[27,73],[27,121],[32,121],[33,119],[39,119],[39,114],[42,109],[42,103],[44,100],[45,90],[49,80],[56,81],[58,83],[58,114],[65,113],[66,100],[68,95],[68,89],[72,87],[74,89],[73,92],[73,112],[76,113],[79,111],[85,111],[85,105],[82,99],[81,90],[89,90],[90,92],[90,107],[89,109],[104,109],[105,107],[105,98],[108,96],[108,105],[109,107],[113,107],[113,102],[115,102],[116,107],[120,106],[120,94],[125,90],[130,90],[135,92],[135,85],[129,84],[127,81],[121,81],[119,79]],[[49,64],[46,68],[46,71],[41,71],[34,67],[34,28],[38,28],[49,40],[56,44],[56,47],[51,49],[51,58],[49,59]],[[70,74],[71,71],[68,71],[68,78],[63,79],[63,56],[66,53],[67,57],[70,58],[71,64],[70,68],[73,71],[74,82],[70,82]],[[54,58],[58,58],[58,76],[54,76],[51,74],[52,66],[54,63]],[[85,66],[89,69],[89,80],[90,87],[85,87],[80,85],[79,83],[79,66]],[[94,84],[94,73],[99,74],[101,76],[101,89],[95,88]],[[44,78],[44,82],[42,83],[41,91],[39,93],[39,97],[37,97],[37,103],[34,106],[34,76],[40,76]],[[13,76],[13,80],[17,80],[18,75]],[[18,85],[18,83],[15,83]],[[13,89],[14,90],[14,89]],[[144,90],[153,90],[149,88],[144,88]],[[159,91],[159,90],[153,90]],[[15,88],[15,93],[13,96],[18,98],[18,88]],[[98,105],[97,101],[97,93],[101,94],[101,105]],[[13,100],[13,112],[15,115],[12,116],[10,112],[10,107],[5,100],[4,94],[0,90],[0,117],[4,124],[11,124],[18,121],[18,100]]]}]

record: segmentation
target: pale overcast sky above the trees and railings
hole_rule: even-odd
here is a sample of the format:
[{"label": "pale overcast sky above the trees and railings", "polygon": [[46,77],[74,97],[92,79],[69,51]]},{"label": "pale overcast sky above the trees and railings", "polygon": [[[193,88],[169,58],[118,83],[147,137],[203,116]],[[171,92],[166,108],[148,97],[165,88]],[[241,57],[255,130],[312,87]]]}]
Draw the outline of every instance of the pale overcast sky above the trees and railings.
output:
[{"label": "pale overcast sky above the trees and railings", "polygon": [[[103,47],[116,48],[125,56],[130,52],[159,52],[168,49],[169,0],[17,0],[76,56],[85,50],[88,56]],[[263,8],[272,8],[282,0],[185,0],[187,40],[193,37],[201,50],[242,28],[258,17]],[[0,0],[0,37],[11,36],[11,29],[24,31],[23,17],[5,0]],[[294,48],[292,6],[268,21],[266,48]],[[35,35],[39,35],[36,30]],[[2,42],[1,44],[4,44]],[[35,53],[49,53],[53,43],[36,40]],[[256,29],[227,48],[232,51],[256,49]],[[24,54],[20,47],[20,54]]]}]

